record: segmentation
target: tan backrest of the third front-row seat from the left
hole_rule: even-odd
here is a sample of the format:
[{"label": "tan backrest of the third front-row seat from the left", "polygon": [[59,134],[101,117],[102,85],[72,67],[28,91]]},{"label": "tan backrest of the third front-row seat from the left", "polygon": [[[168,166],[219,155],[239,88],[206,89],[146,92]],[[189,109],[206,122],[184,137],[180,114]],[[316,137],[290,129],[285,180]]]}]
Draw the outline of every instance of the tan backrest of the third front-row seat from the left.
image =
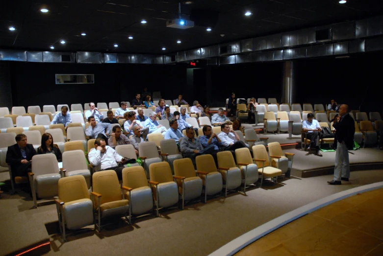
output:
[{"label": "tan backrest of the third front-row seat from the left", "polygon": [[132,189],[149,186],[145,170],[142,166],[130,166],[122,170],[123,186]]}]

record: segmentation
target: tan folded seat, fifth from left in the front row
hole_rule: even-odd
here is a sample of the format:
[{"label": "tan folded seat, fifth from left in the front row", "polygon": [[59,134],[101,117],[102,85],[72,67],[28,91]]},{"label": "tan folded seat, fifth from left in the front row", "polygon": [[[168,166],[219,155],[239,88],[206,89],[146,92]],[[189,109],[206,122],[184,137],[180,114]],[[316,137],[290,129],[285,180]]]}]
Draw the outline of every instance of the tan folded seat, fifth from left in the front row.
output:
[{"label": "tan folded seat, fifth from left in the front row", "polygon": [[202,179],[196,176],[193,163],[190,158],[174,161],[174,174],[178,185],[179,194],[182,198],[182,209],[185,201],[199,198],[202,194]]}]

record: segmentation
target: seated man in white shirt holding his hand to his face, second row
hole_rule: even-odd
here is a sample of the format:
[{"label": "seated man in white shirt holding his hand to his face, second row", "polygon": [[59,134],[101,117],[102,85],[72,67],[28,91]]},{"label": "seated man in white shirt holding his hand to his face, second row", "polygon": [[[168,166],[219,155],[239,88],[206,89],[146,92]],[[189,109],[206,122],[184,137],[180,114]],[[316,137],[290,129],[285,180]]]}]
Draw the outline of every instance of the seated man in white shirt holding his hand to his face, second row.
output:
[{"label": "seated man in white shirt holding his hand to his face, second row", "polygon": [[123,158],[113,148],[107,146],[104,139],[96,139],[95,148],[88,154],[89,163],[95,166],[95,171],[115,170],[118,179],[122,180],[124,166],[118,166],[118,162],[125,163],[128,159]]}]

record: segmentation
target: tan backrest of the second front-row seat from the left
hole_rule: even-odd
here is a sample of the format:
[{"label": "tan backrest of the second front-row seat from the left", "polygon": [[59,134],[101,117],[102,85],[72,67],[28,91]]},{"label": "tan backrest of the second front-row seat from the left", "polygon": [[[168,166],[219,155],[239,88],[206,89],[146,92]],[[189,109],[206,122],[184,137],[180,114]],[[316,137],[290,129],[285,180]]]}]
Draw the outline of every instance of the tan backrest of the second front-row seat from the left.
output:
[{"label": "tan backrest of the second front-row seat from the left", "polygon": [[[114,170],[98,171],[92,175],[93,192],[102,195],[100,203],[105,204],[122,200],[120,182]],[[95,209],[99,207],[98,200],[94,200]]]}]

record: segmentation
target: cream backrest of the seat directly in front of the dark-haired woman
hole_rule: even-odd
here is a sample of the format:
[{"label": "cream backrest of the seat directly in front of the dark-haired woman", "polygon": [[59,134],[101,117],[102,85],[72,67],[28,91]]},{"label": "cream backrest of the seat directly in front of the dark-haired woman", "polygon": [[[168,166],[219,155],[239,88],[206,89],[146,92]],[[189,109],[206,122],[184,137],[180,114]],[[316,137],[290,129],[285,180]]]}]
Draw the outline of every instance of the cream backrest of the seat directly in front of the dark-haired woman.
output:
[{"label": "cream backrest of the seat directly in front of the dark-haired woman", "polygon": [[34,155],[32,172],[34,175],[59,173],[56,156],[54,154]]}]

